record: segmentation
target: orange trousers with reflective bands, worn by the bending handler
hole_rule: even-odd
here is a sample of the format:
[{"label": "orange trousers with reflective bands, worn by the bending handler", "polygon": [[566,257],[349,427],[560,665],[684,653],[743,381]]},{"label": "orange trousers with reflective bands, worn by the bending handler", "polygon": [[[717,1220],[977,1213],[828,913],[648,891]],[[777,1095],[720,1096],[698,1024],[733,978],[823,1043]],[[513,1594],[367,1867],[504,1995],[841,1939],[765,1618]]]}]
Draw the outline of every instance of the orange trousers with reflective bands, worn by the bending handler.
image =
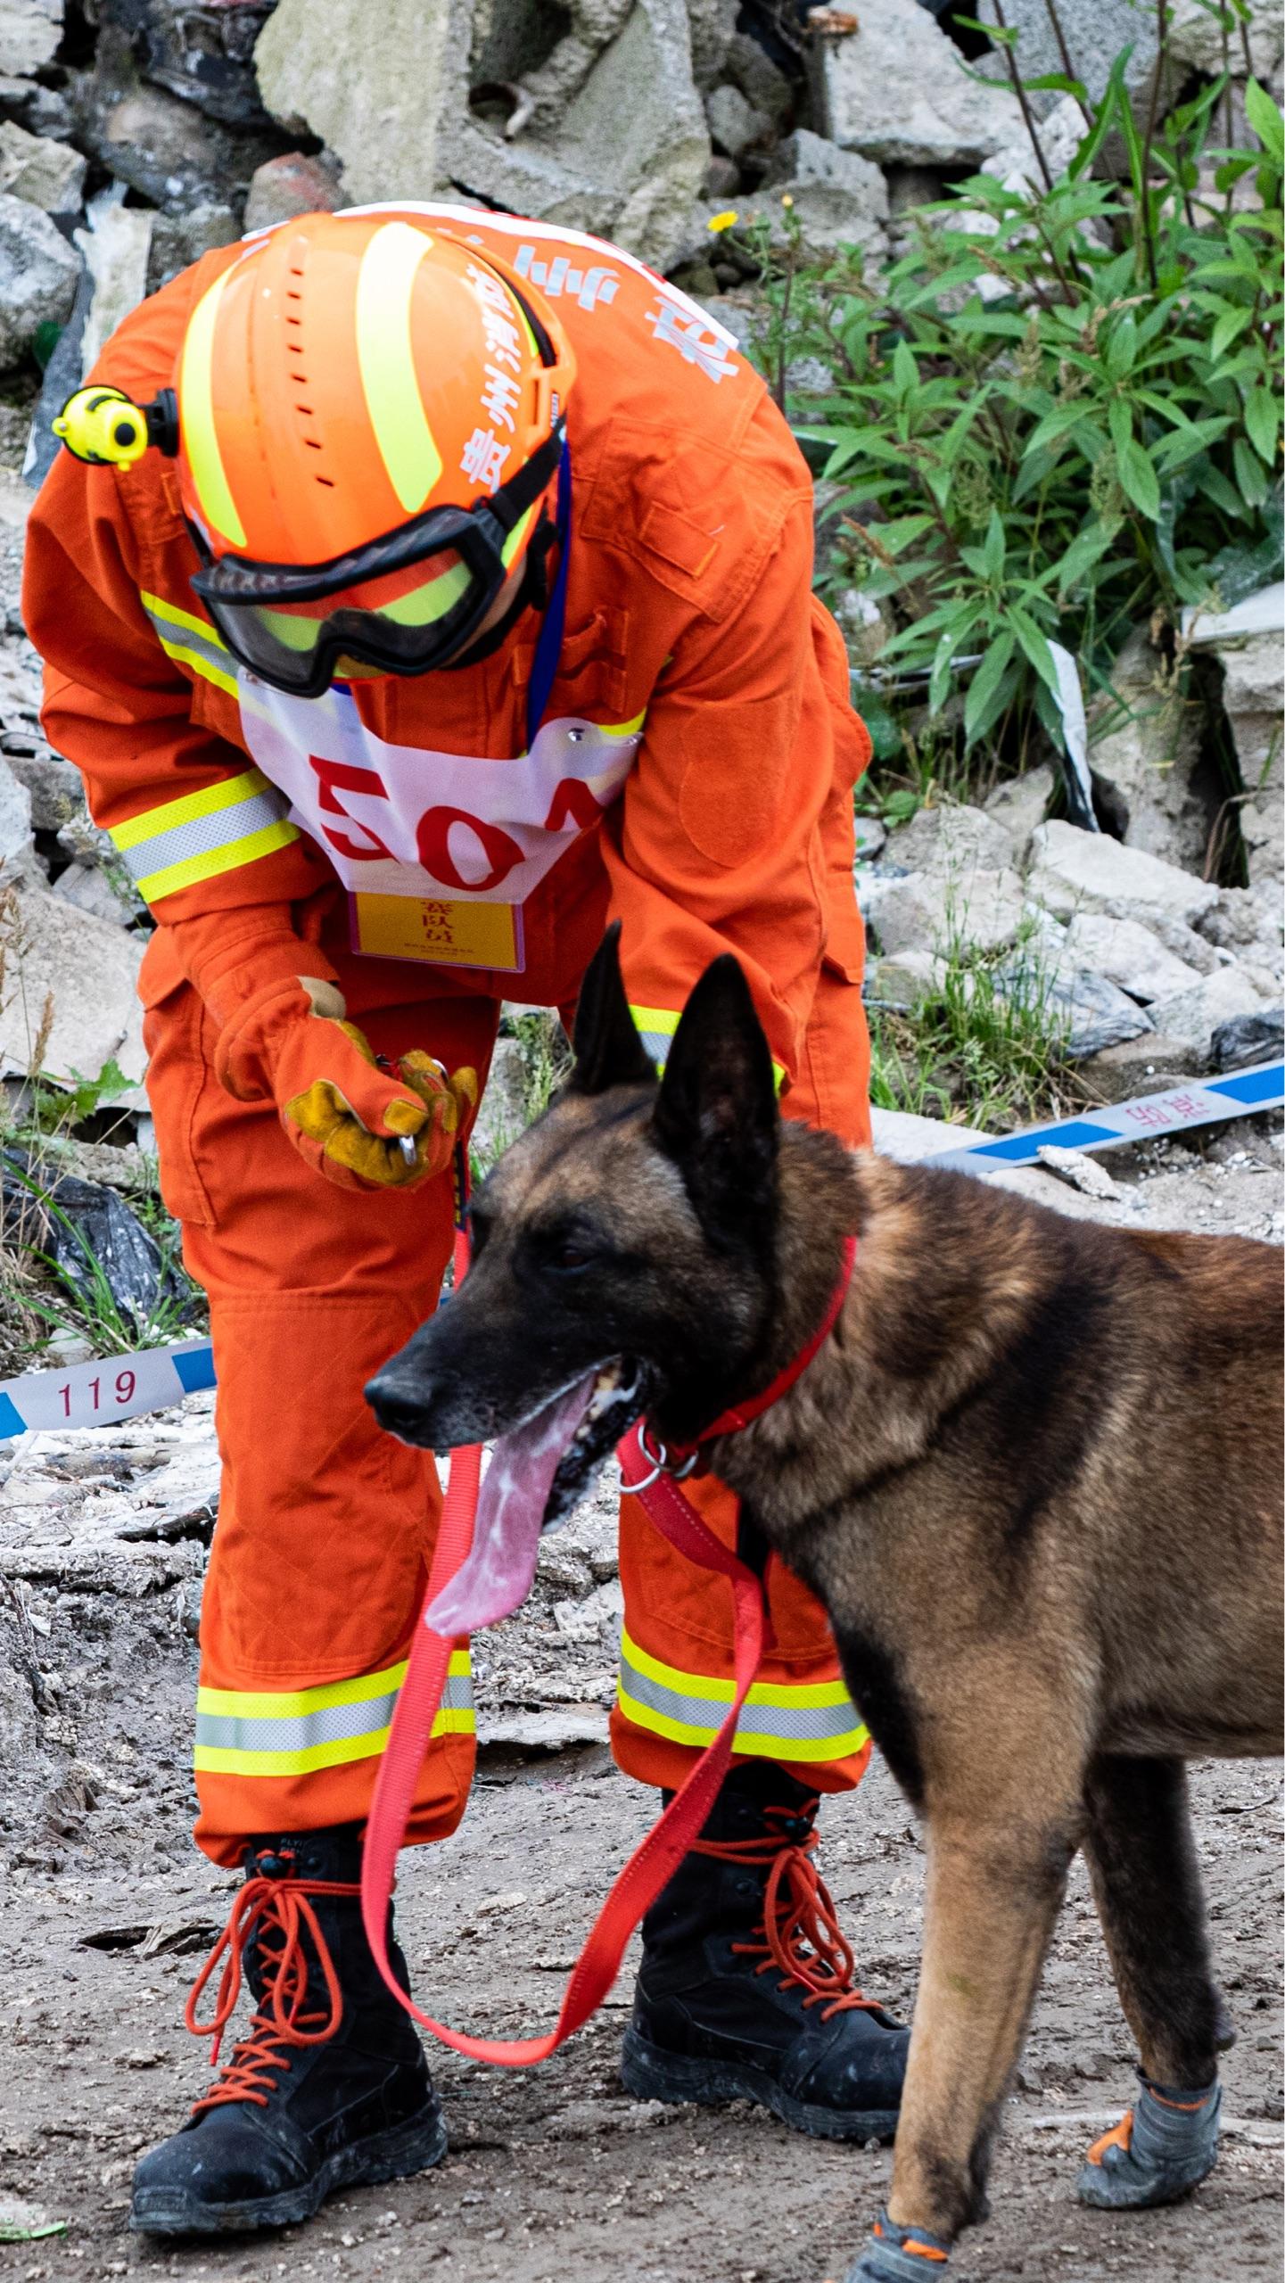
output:
[{"label": "orange trousers with reflective bands, worn by the bending handler", "polygon": [[[340,977],[345,986],[349,977]],[[447,1068],[491,1062],[500,1007],[452,995],[363,1007],[377,1052],[422,1046]],[[381,1434],[363,1383],[436,1306],[452,1244],[450,1183],[409,1194],[340,1189],[313,1173],[272,1103],[212,1071],[215,1025],[183,984],[148,1007],[148,1096],[160,1178],[185,1260],[210,1297],[224,1461],[201,1612],[196,1840],[240,1863],[247,1838],[354,1822],[367,1810],[441,1511],[434,1461]],[[860,993],[822,975],[787,1114],[867,1137]],[[733,1500],[694,1486],[730,1536]],[[619,1765],[678,1785],[730,1701],[733,1598],[621,1502],[625,1630],[612,1712]],[[776,1651],[737,1751],[815,1783],[856,1783],[870,1742],[813,1596],[774,1568]],[[411,1840],[454,1831],[475,1758],[468,1644],[425,1758]]]}]

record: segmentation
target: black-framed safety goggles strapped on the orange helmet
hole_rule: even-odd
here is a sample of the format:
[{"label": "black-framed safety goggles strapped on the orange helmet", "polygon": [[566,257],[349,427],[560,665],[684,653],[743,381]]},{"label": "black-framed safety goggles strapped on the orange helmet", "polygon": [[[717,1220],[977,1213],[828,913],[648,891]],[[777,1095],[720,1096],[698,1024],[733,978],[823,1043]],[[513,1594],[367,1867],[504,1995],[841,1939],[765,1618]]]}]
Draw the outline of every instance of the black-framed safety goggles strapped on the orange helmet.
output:
[{"label": "black-framed safety goggles strapped on the orange helmet", "polygon": [[564,422],[491,498],[434,507],[326,564],[215,559],[189,523],[203,564],[192,584],[233,658],[290,696],[322,696],[340,660],[374,673],[429,673],[491,612],[561,445]]}]

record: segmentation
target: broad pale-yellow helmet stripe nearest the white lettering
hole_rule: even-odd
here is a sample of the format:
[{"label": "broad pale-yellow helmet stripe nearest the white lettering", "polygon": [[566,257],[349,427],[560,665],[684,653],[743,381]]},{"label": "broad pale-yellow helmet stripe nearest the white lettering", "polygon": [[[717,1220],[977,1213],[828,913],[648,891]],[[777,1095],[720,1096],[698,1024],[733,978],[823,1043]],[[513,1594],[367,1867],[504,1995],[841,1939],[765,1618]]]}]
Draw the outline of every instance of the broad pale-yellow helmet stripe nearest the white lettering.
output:
[{"label": "broad pale-yellow helmet stripe nearest the white lettering", "polygon": [[409,516],[420,511],[443,473],[411,340],[415,274],[431,244],[427,231],[388,221],[365,247],[356,276],[356,361],[365,409],[388,482]]}]

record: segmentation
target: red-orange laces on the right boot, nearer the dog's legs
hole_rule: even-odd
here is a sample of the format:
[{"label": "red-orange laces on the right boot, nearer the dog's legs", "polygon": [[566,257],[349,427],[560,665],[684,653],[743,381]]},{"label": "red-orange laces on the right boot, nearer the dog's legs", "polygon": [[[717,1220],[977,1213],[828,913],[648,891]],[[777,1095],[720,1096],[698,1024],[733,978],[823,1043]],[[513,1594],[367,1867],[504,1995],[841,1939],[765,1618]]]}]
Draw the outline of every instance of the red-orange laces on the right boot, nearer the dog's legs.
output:
[{"label": "red-orange laces on the right boot, nearer the dog's legs", "polygon": [[[815,1810],[817,1801],[813,1799],[803,1810],[765,1808],[765,1815],[792,1824],[799,1813],[815,1815]],[[769,1975],[776,1968],[783,1975],[783,1991],[808,1991],[803,2007],[824,2004],[822,2020],[854,2007],[874,2011],[879,2000],[863,1998],[854,1984],[856,1959],[838,1922],[831,1890],[813,1863],[815,1847],[815,1831],[806,1840],[790,1840],[785,1831],[778,1836],[767,1831],[753,1840],[696,1840],[692,1854],[714,1856],[717,1863],[771,1865],[762,1895],[762,1920],[755,1927],[755,1936],[762,1941],[733,1943],[737,1957],[762,1959],[755,1973]]]}]

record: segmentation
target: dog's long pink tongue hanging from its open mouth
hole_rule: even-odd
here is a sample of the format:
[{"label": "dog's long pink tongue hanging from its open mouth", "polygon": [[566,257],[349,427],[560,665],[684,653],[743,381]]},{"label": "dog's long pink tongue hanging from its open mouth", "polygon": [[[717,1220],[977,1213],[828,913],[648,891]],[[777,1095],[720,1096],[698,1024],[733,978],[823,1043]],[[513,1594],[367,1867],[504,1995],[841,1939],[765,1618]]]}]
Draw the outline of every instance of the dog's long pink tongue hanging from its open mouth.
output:
[{"label": "dog's long pink tongue hanging from its open mouth", "polygon": [[472,1552],[431,1610],[425,1610],[425,1623],[434,1632],[498,1625],[532,1591],[557,1461],[589,1411],[593,1379],[596,1372],[587,1372],[566,1395],[536,1411],[534,1420],[495,1443],[477,1500]]}]

